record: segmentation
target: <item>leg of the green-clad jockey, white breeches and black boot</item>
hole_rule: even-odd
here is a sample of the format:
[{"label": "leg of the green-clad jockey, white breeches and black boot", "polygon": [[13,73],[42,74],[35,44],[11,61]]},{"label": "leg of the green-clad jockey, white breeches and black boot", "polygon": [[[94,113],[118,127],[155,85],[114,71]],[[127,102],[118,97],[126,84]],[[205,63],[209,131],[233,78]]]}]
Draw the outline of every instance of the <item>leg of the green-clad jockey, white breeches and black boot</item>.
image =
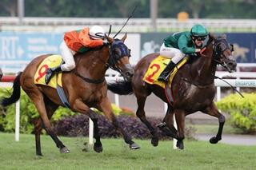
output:
[{"label": "leg of the green-clad jockey, white breeches and black boot", "polygon": [[162,44],[160,48],[160,55],[171,58],[171,61],[168,63],[168,65],[166,65],[166,69],[164,69],[158,77],[158,81],[168,81],[170,72],[174,69],[177,63],[181,61],[183,57],[185,57],[185,55],[180,49],[166,47],[164,44]]}]

